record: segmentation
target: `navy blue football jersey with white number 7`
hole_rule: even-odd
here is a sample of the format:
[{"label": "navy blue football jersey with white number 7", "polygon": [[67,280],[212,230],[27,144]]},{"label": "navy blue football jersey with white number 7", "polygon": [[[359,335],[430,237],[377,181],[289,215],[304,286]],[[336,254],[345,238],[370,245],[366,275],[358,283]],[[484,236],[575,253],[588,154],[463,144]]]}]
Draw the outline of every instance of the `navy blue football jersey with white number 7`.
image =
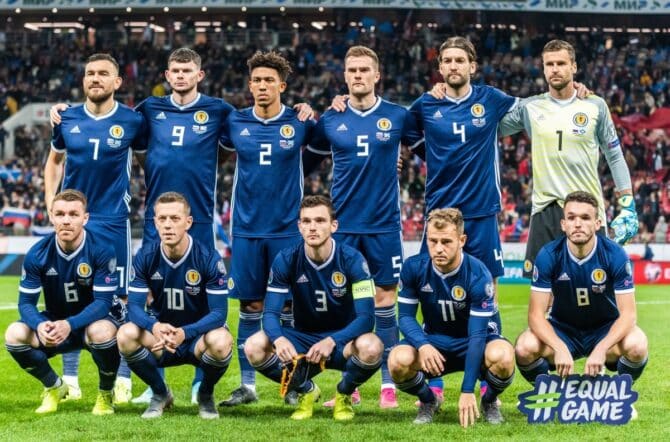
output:
[{"label": "navy blue football jersey with white number 7", "polygon": [[51,148],[66,153],[63,189],[86,195],[88,211],[98,219],[127,219],[130,213],[131,148],[143,144],[144,118],[123,104],[102,116],[85,105],[61,113]]}]

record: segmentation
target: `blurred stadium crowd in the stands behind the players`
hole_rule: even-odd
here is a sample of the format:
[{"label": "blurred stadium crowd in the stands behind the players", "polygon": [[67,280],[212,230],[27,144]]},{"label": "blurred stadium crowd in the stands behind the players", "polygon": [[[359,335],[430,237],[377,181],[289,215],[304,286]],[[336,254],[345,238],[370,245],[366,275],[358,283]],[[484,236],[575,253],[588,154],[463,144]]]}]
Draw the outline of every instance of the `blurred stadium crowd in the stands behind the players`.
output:
[{"label": "blurred stadium crowd in the stands behind the players", "polygon": [[[606,34],[604,32],[565,33],[558,29],[500,29],[474,26],[466,29],[420,30],[403,24],[401,29],[363,32],[324,30],[296,32],[282,46],[294,67],[289,79],[286,104],[308,102],[323,111],[331,99],[343,91],[343,58],[351,44],[364,44],[380,55],[383,80],[379,93],[386,99],[409,105],[422,92],[439,81],[436,69],[437,47],[445,35],[467,35],[478,48],[479,66],[474,82],[486,83],[521,97],[545,90],[540,52],[551,38],[563,38],[577,49],[577,79],[605,98],[615,116],[648,116],[670,106],[670,42],[663,36]],[[25,31],[30,32],[30,31]],[[119,35],[120,34],[120,35]],[[123,50],[118,38],[127,44]],[[219,44],[216,36],[199,39],[194,49],[203,57],[203,93],[221,96],[236,107],[246,107],[250,95],[246,86],[245,60],[261,47]],[[158,38],[145,33],[129,38],[123,27],[117,32],[100,33],[93,41],[85,33],[52,34],[49,44],[8,39],[0,55],[0,121],[31,102],[80,102],[84,60],[94,52],[109,51],[122,67],[123,86],[117,97],[136,105],[150,95],[169,92],[163,69],[169,52],[195,41],[187,31]],[[640,217],[638,242],[670,242],[670,132],[663,129],[628,130],[621,127],[620,139],[631,171],[633,191]],[[6,132],[0,126],[4,154]],[[5,231],[23,233],[48,224],[43,203],[42,167],[49,150],[50,129],[45,126],[16,130],[15,156],[0,165],[0,205]],[[530,219],[532,187],[530,144],[521,135],[499,141],[503,211],[500,214],[504,241],[524,241]],[[4,157],[4,156],[3,156]],[[423,231],[423,191],[425,165],[409,151],[403,151],[401,173],[403,232],[405,239],[420,237]],[[615,195],[606,165],[601,165],[607,215],[613,217]],[[305,181],[306,194],[326,193],[330,186],[330,164]],[[219,170],[217,208],[224,226],[230,219],[233,166]],[[144,179],[138,164],[133,165],[132,215],[134,227],[144,219]]]}]

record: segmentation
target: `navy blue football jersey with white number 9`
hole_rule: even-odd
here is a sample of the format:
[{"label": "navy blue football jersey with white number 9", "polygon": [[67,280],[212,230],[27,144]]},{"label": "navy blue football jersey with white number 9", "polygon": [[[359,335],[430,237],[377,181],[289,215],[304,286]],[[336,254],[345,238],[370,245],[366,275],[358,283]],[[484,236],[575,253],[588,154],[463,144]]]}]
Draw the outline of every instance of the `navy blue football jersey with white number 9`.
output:
[{"label": "navy blue football jersey with white number 9", "polygon": [[232,110],[224,100],[201,94],[185,106],[170,95],[137,106],[149,125],[145,223],[153,225],[156,199],[173,191],[186,197],[195,223],[213,224],[219,139]]}]

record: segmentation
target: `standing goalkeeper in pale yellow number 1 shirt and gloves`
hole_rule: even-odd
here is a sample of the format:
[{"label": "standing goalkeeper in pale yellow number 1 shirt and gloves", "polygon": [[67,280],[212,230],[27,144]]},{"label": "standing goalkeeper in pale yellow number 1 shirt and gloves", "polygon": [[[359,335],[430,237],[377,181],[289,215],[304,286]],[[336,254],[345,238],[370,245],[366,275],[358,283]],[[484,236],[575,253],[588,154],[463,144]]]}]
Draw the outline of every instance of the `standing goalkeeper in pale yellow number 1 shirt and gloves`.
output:
[{"label": "standing goalkeeper in pale yellow number 1 shirt and gloves", "polygon": [[605,101],[595,95],[577,99],[573,76],[575,50],[552,40],[542,51],[549,92],[527,98],[505,115],[502,136],[525,130],[531,138],[533,196],[524,276],[530,278],[535,257],[546,243],[563,235],[565,196],[584,190],[598,198],[605,233],[605,204],[598,171],[602,152],[614,179],[619,214],[612,221],[614,240],[624,244],[637,233],[638,220],[628,166]]}]

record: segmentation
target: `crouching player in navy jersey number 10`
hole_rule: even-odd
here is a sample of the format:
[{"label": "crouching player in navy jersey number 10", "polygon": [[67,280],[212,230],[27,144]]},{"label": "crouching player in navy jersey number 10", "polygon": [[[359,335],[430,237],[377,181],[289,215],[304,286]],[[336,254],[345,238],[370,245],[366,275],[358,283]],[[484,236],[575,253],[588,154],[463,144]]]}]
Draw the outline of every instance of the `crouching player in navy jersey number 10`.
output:
[{"label": "crouching player in navy jersey number 10", "polygon": [[[160,417],[173,402],[158,367],[192,364],[204,373],[200,417],[215,419],[214,386],[228,368],[233,342],[225,327],[226,268],[216,249],[188,235],[193,218],[181,194],[162,194],[154,211],[160,242],[143,245],[133,260],[130,322],[119,329],[119,350],[153,391],[143,418]],[[144,309],[148,294],[156,317]]]}]

